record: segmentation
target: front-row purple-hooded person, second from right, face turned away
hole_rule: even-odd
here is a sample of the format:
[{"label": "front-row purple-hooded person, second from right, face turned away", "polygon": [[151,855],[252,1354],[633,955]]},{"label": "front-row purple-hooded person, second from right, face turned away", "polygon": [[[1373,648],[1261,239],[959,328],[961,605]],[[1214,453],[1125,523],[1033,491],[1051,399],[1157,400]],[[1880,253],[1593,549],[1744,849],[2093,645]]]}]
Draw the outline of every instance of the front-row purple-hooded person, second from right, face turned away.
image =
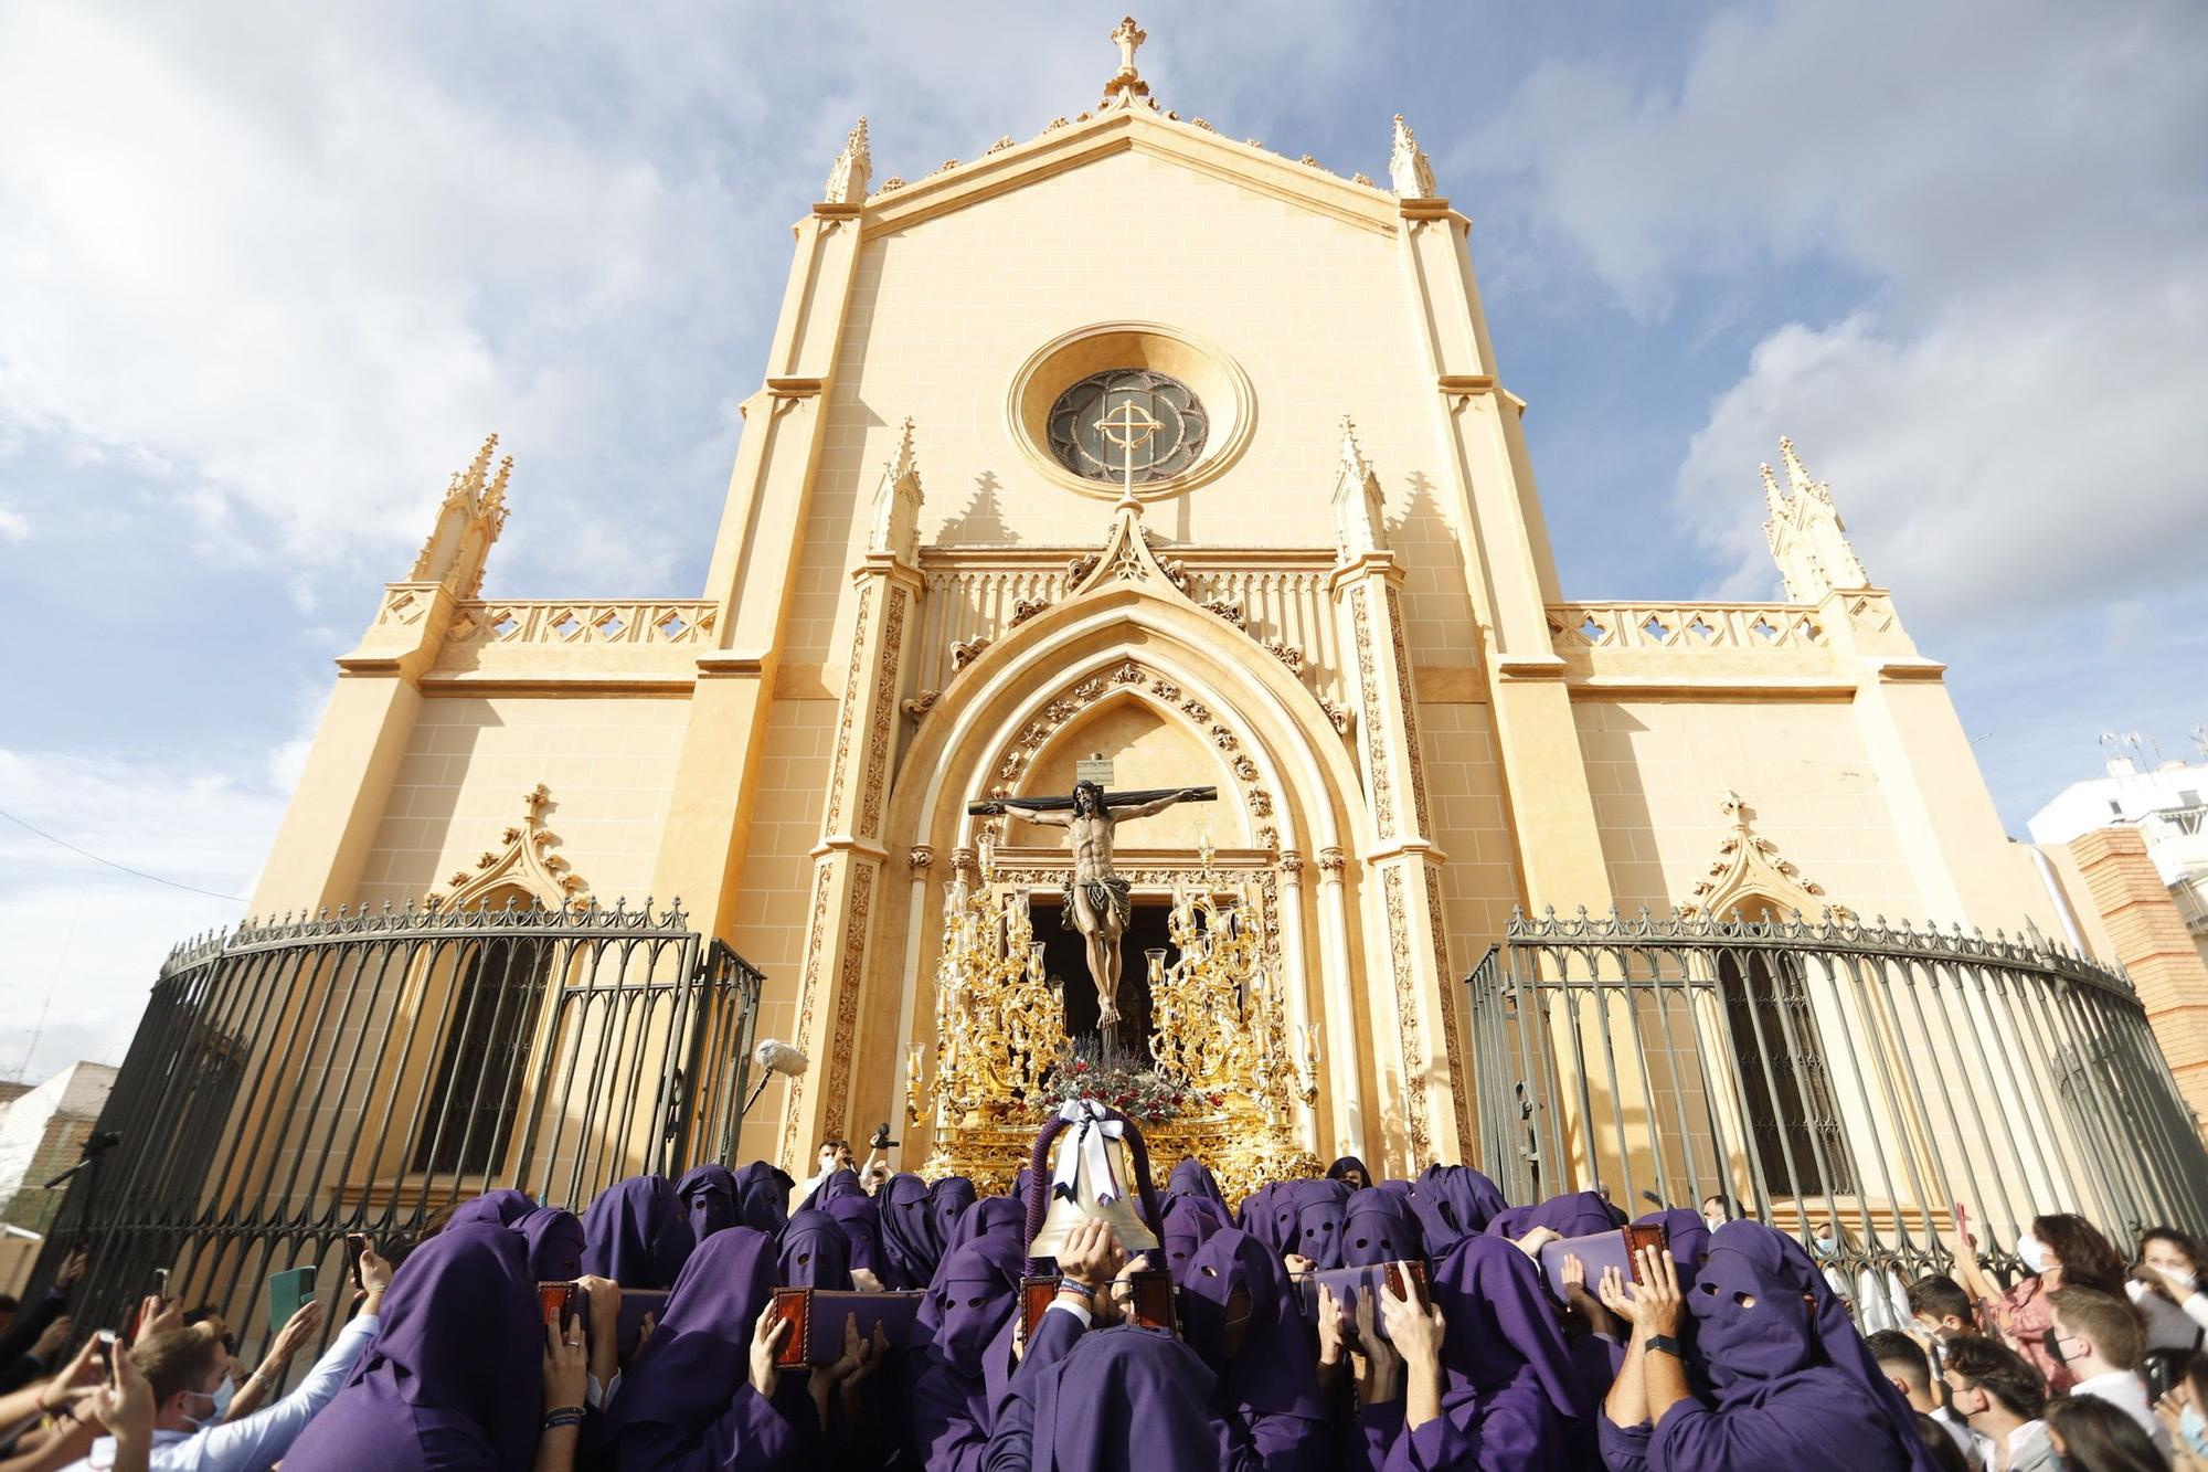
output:
[{"label": "front-row purple-hooded person, second from right, face turned away", "polygon": [[[1532,1258],[1504,1238],[1464,1238],[1435,1264],[1433,1304],[1446,1326],[1442,1415],[1393,1437],[1387,1472],[1594,1465],[1594,1401]],[[1365,1426],[1376,1430],[1369,1412]]]}]

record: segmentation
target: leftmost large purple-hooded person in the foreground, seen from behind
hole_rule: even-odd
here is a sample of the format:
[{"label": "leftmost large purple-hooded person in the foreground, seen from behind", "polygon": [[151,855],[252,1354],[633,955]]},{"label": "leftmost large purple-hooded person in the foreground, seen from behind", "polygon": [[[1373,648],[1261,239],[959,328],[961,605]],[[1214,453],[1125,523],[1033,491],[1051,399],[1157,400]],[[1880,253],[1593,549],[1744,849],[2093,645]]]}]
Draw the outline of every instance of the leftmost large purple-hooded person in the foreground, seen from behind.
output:
[{"label": "leftmost large purple-hooded person in the foreground, seen from behind", "polygon": [[528,1472],[543,1322],[521,1233],[446,1227],[406,1255],[351,1379],[285,1454],[347,1472]]}]

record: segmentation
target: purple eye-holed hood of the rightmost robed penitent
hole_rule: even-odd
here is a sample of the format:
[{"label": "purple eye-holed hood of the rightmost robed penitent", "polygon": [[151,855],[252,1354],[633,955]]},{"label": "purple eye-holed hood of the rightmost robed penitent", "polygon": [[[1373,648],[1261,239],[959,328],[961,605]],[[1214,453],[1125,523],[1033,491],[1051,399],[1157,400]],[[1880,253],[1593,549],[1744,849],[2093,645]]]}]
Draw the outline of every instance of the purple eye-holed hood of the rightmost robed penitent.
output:
[{"label": "purple eye-holed hood of the rightmost robed penitent", "polygon": [[[1762,1222],[1718,1227],[1702,1271],[1687,1289],[1687,1311],[1694,1313],[1696,1355],[1707,1366],[1718,1410],[1755,1406],[1793,1377],[1828,1366],[1868,1392],[1919,1472],[1934,1465],[1901,1392],[1855,1331],[1846,1304],[1793,1238]],[[1866,1448],[1850,1448],[1848,1461],[1870,1465],[1864,1454]]]}]

